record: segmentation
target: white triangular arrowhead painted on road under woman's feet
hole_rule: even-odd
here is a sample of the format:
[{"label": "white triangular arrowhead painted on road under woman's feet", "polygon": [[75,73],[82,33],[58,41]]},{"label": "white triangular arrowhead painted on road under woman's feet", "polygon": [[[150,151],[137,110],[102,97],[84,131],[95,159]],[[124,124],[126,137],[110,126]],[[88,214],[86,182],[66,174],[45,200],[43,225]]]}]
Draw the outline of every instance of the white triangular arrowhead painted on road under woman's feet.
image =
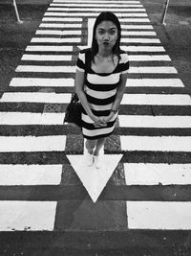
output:
[{"label": "white triangular arrowhead painted on road under woman's feet", "polygon": [[67,155],[67,157],[88,194],[96,202],[109,178],[116,170],[122,154],[100,153],[102,163],[100,169],[96,169],[94,165],[91,167],[87,166],[86,152],[83,155]]}]

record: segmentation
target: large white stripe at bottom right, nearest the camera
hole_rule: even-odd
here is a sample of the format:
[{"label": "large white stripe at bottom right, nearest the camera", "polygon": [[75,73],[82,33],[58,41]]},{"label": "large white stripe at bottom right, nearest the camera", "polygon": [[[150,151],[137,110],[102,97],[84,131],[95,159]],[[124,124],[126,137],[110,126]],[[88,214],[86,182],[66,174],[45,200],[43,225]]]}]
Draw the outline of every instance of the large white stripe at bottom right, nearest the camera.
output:
[{"label": "large white stripe at bottom right, nearest the camera", "polygon": [[130,229],[191,229],[191,202],[127,201]]}]

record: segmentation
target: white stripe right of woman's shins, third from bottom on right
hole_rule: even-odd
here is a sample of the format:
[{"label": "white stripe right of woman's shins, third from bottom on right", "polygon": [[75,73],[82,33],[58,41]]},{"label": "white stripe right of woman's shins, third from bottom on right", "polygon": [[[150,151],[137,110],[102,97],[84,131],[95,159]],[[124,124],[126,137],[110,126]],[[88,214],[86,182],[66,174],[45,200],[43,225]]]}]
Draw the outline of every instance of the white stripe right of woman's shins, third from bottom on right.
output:
[{"label": "white stripe right of woman's shins, third from bottom on right", "polygon": [[122,151],[191,151],[191,136],[120,136]]}]

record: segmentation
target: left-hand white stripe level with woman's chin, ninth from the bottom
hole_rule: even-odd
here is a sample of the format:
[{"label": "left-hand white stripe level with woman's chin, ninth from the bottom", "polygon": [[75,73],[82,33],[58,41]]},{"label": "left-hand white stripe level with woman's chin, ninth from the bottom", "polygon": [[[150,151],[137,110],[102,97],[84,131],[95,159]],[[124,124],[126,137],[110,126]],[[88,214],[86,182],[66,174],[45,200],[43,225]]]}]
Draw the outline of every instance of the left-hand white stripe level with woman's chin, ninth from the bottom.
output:
[{"label": "left-hand white stripe level with woman's chin, ninth from the bottom", "polygon": [[30,45],[26,48],[27,52],[72,52],[73,46],[68,45]]}]

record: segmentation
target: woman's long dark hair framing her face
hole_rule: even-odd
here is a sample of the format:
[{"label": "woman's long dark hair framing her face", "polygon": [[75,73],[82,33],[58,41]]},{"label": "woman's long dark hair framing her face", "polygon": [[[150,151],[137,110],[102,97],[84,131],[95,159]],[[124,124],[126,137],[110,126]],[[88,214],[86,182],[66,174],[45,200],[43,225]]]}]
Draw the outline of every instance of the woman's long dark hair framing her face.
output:
[{"label": "woman's long dark hair framing her face", "polygon": [[112,52],[113,55],[117,55],[118,58],[120,58],[120,38],[121,38],[121,28],[120,23],[118,21],[117,16],[113,12],[101,12],[96,17],[95,26],[93,29],[93,41],[92,41],[92,61],[95,62],[95,56],[98,52],[98,44],[96,42],[96,27],[98,24],[100,24],[102,21],[112,21],[117,26],[117,42],[114,45]]}]

